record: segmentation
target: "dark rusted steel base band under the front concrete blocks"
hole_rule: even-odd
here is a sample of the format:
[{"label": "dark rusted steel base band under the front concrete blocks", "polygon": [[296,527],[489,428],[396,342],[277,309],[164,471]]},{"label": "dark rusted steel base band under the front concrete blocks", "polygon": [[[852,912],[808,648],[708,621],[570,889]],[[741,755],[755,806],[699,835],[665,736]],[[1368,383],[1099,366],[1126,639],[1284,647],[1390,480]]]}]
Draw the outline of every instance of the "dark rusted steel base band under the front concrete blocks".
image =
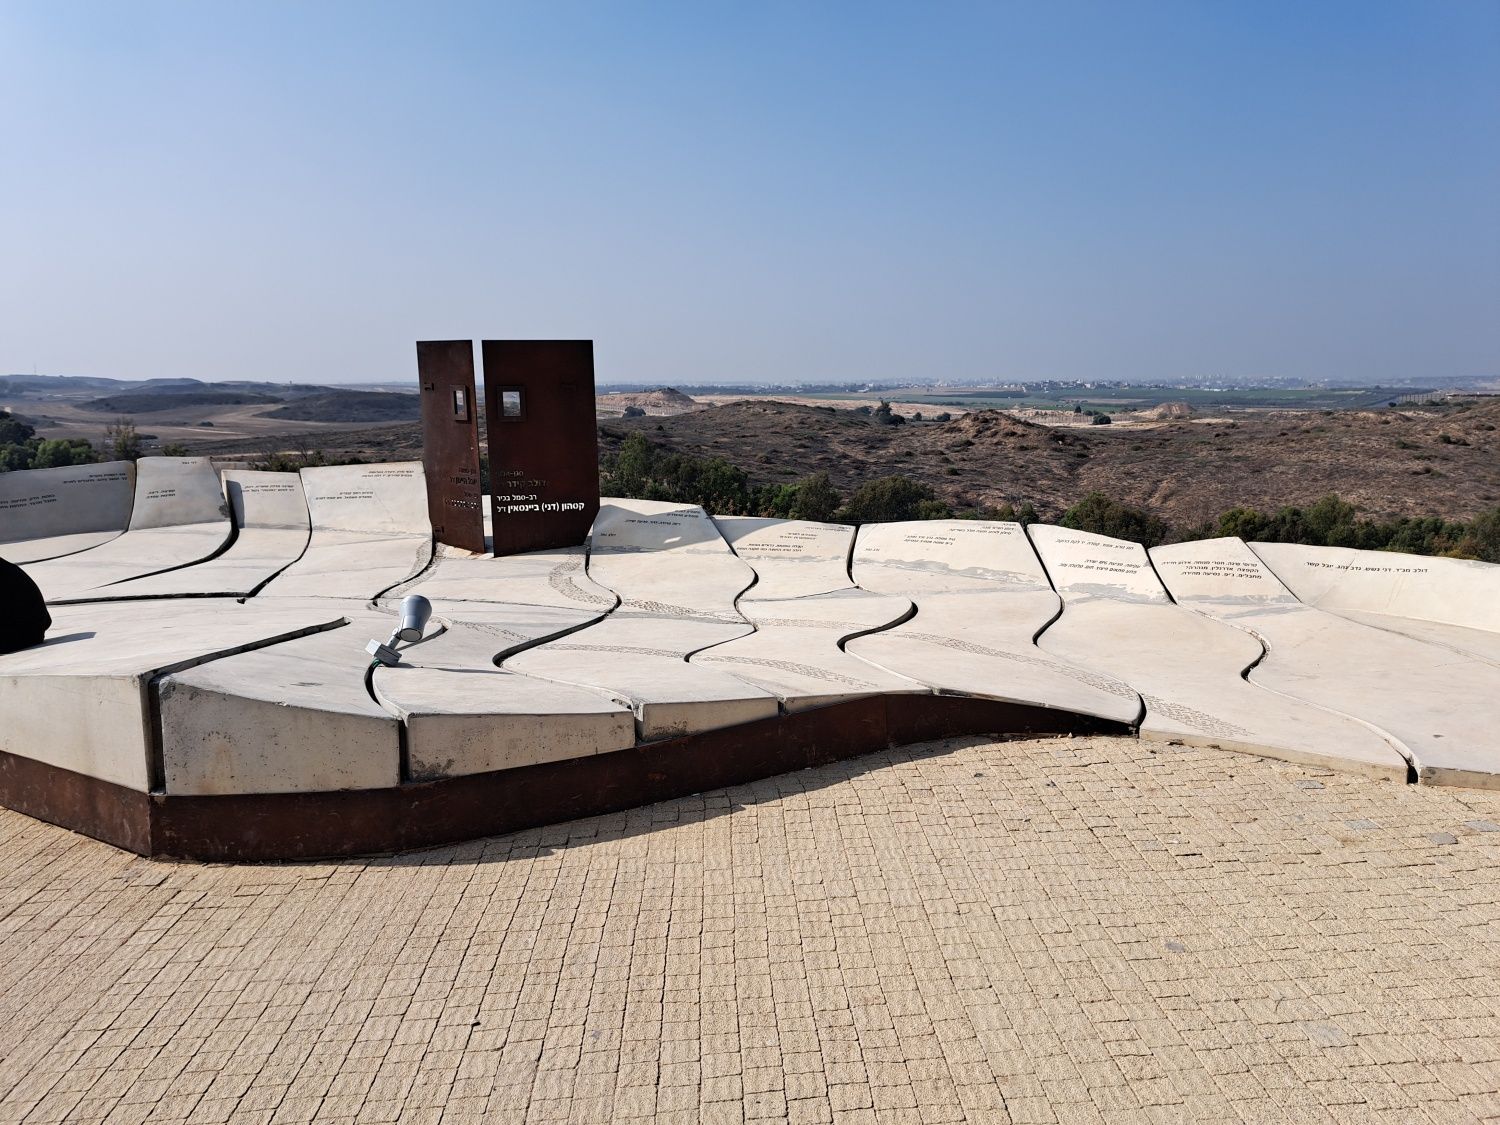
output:
[{"label": "dark rusted steel base band under the front concrete blocks", "polygon": [[634,808],[958,735],[1128,734],[1065,711],[892,696],[651,746],[384,789],[172,796],[0,753],[0,804],[140,855],[266,862],[388,854]]}]

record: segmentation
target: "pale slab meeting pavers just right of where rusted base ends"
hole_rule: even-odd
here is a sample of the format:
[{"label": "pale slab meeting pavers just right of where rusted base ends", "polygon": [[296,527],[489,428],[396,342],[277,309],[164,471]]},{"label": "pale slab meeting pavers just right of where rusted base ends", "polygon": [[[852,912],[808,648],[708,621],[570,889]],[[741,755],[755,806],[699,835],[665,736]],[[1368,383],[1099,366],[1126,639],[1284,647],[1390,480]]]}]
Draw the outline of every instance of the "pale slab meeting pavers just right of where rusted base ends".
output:
[{"label": "pale slab meeting pavers just right of where rusted base ends", "polygon": [[1034,524],[1064,600],[1038,645],[1140,692],[1140,736],[1404,778],[1407,760],[1371,728],[1268,692],[1244,675],[1260,642],[1173,604],[1138,543]]}]

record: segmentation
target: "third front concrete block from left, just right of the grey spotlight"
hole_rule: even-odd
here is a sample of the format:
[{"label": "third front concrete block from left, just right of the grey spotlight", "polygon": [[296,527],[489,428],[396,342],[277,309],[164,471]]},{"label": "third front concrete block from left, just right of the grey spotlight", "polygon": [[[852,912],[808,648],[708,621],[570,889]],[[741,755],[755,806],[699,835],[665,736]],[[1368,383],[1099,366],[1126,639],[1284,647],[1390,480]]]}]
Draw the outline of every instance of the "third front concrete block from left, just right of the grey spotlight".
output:
[{"label": "third front concrete block from left, just right of the grey spotlight", "polygon": [[[495,666],[518,640],[552,636],[578,610],[554,606],[441,603],[488,614],[453,621],[376,668],[374,688],[406,724],[411,780],[430,782],[626,750],[636,742],[632,710],[602,692],[537,680]],[[429,626],[432,632],[432,626]]]}]

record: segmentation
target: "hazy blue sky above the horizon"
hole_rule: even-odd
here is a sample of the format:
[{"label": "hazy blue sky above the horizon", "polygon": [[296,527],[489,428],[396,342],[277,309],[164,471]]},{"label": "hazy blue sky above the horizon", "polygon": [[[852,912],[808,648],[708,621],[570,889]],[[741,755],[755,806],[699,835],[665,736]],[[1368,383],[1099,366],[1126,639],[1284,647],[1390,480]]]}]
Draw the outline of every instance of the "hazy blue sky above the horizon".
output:
[{"label": "hazy blue sky above the horizon", "polygon": [[1500,3],[0,0],[0,372],[1500,374]]}]

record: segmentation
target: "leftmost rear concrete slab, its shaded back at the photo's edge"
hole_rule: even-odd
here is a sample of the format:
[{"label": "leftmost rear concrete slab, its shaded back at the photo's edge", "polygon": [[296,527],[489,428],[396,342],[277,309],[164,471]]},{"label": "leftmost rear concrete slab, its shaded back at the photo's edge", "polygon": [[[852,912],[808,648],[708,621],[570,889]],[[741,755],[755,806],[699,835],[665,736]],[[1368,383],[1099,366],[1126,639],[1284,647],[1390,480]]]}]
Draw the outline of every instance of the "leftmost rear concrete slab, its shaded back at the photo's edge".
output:
[{"label": "leftmost rear concrete slab, its shaded back at the photo's edge", "polygon": [[0,558],[21,566],[108,543],[134,500],[129,460],[0,472]]}]

